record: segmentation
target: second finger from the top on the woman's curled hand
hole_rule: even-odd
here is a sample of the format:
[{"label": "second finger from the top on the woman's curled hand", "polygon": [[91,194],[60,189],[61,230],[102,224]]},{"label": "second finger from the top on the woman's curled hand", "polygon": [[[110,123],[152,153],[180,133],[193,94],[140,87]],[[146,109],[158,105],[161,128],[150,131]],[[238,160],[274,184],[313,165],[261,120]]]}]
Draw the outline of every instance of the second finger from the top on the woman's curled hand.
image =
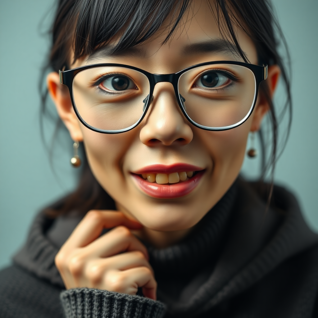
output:
[{"label": "second finger from the top on the woman's curled hand", "polygon": [[110,257],[121,252],[140,251],[147,260],[149,259],[146,246],[125,226],[115,227],[82,250],[83,256],[88,258]]}]

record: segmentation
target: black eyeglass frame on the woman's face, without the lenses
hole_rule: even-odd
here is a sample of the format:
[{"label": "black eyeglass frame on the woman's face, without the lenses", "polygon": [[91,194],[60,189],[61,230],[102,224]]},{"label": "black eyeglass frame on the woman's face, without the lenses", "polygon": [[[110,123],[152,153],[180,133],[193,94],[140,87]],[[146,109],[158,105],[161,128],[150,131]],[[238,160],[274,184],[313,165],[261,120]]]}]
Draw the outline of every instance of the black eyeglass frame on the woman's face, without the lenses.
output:
[{"label": "black eyeglass frame on the woman's face, without the lenses", "polygon": [[[195,121],[193,121],[188,114],[186,113],[186,111],[184,110],[184,107],[182,105],[182,101],[181,101],[181,96],[180,93],[178,91],[178,83],[179,83],[179,79],[181,77],[181,75],[193,68],[196,67],[200,67],[200,66],[206,66],[206,65],[215,65],[215,64],[230,64],[230,65],[238,65],[238,66],[244,66],[248,69],[250,69],[252,71],[252,73],[254,74],[254,79],[255,79],[255,93],[254,93],[254,102],[252,107],[250,108],[249,112],[246,114],[246,116],[239,121],[236,124],[230,125],[230,126],[225,126],[225,127],[207,127],[207,126],[203,126],[200,125],[198,123],[196,123]],[[124,128],[124,129],[118,129],[118,130],[104,130],[104,129],[98,129],[95,128],[93,126],[90,126],[89,124],[87,124],[83,118],[81,117],[81,115],[79,114],[75,102],[74,102],[74,97],[73,97],[73,80],[75,78],[75,76],[80,73],[81,71],[90,69],[90,68],[95,68],[95,67],[104,67],[104,66],[117,66],[117,67],[125,67],[125,68],[129,68],[135,71],[138,71],[142,74],[144,74],[148,80],[149,80],[149,95],[148,95],[148,100],[147,100],[147,105],[146,107],[144,107],[143,110],[143,114],[140,117],[139,121],[137,121],[135,124],[131,125],[128,128]],[[118,63],[99,63],[99,64],[91,64],[91,65],[86,65],[86,66],[80,66],[77,68],[73,68],[70,70],[59,70],[59,78],[60,78],[60,83],[63,85],[66,85],[69,89],[70,92],[70,97],[71,97],[71,101],[72,101],[72,106],[74,109],[74,112],[76,114],[76,116],[78,117],[79,121],[86,127],[89,128],[95,132],[98,133],[102,133],[102,134],[120,134],[120,133],[124,133],[126,131],[129,131],[131,129],[134,129],[135,127],[137,127],[142,120],[144,119],[144,117],[146,116],[148,109],[150,107],[150,104],[152,103],[153,100],[153,92],[155,89],[155,86],[157,83],[162,83],[162,82],[167,82],[167,83],[171,83],[174,91],[175,91],[175,95],[176,95],[176,99],[178,101],[178,105],[183,113],[183,115],[186,117],[186,119],[195,127],[200,128],[200,129],[204,129],[204,130],[210,130],[210,131],[224,131],[224,130],[229,130],[232,128],[236,128],[240,125],[242,125],[252,114],[255,105],[256,105],[256,100],[257,100],[257,96],[258,96],[258,91],[259,91],[259,84],[265,80],[267,78],[267,73],[268,73],[268,66],[267,65],[255,65],[255,64],[250,64],[250,63],[245,63],[245,62],[239,62],[239,61],[211,61],[211,62],[205,62],[205,63],[200,63],[200,64],[196,64],[196,65],[192,65],[189,66],[177,73],[170,73],[170,74],[153,74],[153,73],[149,73],[145,70],[142,70],[138,67],[135,66],[130,66],[130,65],[125,65],[125,64],[118,64]],[[149,98],[150,96],[152,96],[151,98]]]}]

